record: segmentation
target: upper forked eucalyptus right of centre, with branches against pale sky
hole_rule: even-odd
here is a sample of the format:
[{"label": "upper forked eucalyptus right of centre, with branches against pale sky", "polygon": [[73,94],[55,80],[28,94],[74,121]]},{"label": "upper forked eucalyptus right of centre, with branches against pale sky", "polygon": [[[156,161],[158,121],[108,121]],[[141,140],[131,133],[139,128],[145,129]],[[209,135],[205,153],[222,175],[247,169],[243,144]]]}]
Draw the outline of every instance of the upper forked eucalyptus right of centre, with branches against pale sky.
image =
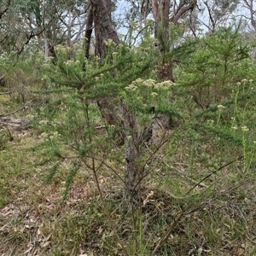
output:
[{"label": "upper forked eucalyptus right of centre, with branches against pale sky", "polygon": [[[138,44],[142,38],[157,38],[160,55],[157,68],[160,77],[174,80],[173,49],[178,44],[178,37],[181,37],[183,32],[189,31],[190,25],[186,27],[186,18],[196,9],[197,0],[126,0],[126,2],[130,3],[128,13],[125,15],[127,22],[130,22],[128,34],[125,36],[128,44]],[[176,25],[180,26],[179,28],[183,26],[183,29],[174,32]]]}]

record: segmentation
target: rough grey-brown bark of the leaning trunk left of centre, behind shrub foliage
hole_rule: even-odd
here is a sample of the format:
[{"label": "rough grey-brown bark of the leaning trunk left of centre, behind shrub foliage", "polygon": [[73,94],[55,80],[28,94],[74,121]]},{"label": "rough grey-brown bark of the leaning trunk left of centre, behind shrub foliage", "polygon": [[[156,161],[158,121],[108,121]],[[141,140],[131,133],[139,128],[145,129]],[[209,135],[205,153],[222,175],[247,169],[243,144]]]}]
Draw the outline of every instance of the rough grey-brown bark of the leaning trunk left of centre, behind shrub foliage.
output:
[{"label": "rough grey-brown bark of the leaning trunk left of centre, behind shrub foliage", "polygon": [[[111,20],[111,1],[110,0],[90,0],[91,12],[96,36],[95,54],[103,59],[107,55],[107,47],[104,43],[112,39],[115,44],[119,44],[117,33],[113,29]],[[90,16],[89,16],[90,18]],[[90,29],[90,22],[88,29]],[[102,112],[102,117],[107,120],[109,125],[121,126],[119,137],[125,142],[125,190],[124,201],[128,206],[131,198],[137,191],[137,182],[140,174],[137,168],[138,144],[140,142],[137,118],[129,109],[121,105],[120,102],[110,101],[102,98],[97,102]],[[119,113],[122,119],[119,118]]]}]

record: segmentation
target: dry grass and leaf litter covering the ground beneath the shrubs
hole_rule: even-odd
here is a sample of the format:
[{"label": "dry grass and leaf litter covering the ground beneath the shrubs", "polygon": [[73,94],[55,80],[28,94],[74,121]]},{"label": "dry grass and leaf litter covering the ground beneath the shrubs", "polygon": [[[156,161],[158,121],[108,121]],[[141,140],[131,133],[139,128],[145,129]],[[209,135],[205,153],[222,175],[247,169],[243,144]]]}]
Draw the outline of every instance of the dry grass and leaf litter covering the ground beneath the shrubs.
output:
[{"label": "dry grass and leaf litter covering the ground beneath the shrubs", "polygon": [[[0,108],[6,104],[4,100]],[[0,132],[6,131],[5,127]],[[151,172],[144,180],[142,211],[132,216],[122,209],[122,183],[106,168],[98,173],[104,202],[92,173],[83,166],[67,201],[61,203],[71,160],[62,160],[55,178],[47,183],[55,162],[41,164],[45,149],[38,147],[39,133],[37,127],[9,128],[10,136],[3,137],[0,255],[125,255],[113,230],[128,255],[152,255],[170,229],[154,255],[256,255],[254,169],[251,166],[241,176],[243,161],[234,158],[240,149],[214,144],[211,137],[213,143],[208,143],[199,133],[195,138],[189,131],[185,136],[172,132],[148,163]],[[120,163],[108,164],[123,172]]]}]

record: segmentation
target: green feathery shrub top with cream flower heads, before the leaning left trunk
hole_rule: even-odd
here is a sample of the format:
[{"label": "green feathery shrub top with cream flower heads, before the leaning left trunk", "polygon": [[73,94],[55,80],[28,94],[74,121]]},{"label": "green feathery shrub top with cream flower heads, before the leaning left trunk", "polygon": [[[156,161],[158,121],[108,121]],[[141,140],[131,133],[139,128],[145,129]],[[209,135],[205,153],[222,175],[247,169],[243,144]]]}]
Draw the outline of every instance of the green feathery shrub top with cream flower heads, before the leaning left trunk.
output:
[{"label": "green feathery shrub top with cream flower heads, before the leaning left trunk", "polygon": [[143,77],[152,65],[154,51],[129,49],[123,44],[115,47],[112,41],[106,44],[108,55],[104,61],[85,59],[82,49],[58,46],[56,67],[49,59],[45,72],[55,83],[82,91],[86,99],[95,99],[122,90],[137,77]]}]

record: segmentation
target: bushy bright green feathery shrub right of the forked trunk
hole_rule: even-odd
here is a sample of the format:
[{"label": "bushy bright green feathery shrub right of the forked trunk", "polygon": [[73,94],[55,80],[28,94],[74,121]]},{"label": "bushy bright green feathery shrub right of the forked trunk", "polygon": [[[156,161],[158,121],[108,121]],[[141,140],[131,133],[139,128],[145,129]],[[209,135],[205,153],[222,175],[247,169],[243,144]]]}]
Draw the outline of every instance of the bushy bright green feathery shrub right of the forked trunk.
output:
[{"label": "bushy bright green feathery shrub right of the forked trunk", "polygon": [[240,26],[220,28],[198,39],[195,51],[177,69],[177,83],[188,88],[201,108],[231,95],[236,83],[247,78],[249,45],[240,35]]}]

